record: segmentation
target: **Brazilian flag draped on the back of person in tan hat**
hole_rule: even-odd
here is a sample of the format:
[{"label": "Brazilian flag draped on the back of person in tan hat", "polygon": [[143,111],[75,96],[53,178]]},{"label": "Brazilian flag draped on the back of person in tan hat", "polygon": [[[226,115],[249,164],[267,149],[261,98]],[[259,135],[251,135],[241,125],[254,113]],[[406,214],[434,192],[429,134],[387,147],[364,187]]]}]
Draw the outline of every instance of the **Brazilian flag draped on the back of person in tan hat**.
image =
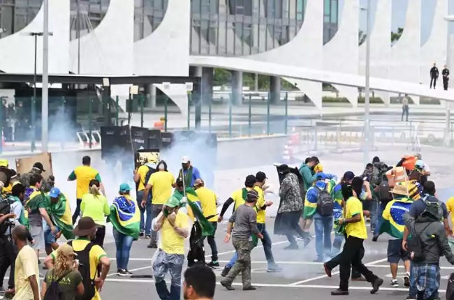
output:
[{"label": "Brazilian flag draped on the back of person in tan hat", "polygon": [[413,204],[413,200],[408,198],[393,200],[386,204],[386,208],[383,211],[380,233],[386,232],[391,237],[402,239],[405,228],[404,218],[402,216],[410,210],[411,204]]}]

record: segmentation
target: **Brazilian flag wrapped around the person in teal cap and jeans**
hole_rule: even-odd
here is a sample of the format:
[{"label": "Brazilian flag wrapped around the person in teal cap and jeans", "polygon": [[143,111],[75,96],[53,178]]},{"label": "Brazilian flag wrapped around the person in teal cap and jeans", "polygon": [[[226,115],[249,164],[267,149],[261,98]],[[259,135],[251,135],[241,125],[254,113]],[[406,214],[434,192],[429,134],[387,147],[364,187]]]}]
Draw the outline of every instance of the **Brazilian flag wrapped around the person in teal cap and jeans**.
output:
[{"label": "Brazilian flag wrapped around the person in teal cap and jeans", "polygon": [[109,219],[118,232],[133,237],[134,240],[139,238],[140,209],[136,200],[129,195],[120,195],[115,198],[110,206]]}]

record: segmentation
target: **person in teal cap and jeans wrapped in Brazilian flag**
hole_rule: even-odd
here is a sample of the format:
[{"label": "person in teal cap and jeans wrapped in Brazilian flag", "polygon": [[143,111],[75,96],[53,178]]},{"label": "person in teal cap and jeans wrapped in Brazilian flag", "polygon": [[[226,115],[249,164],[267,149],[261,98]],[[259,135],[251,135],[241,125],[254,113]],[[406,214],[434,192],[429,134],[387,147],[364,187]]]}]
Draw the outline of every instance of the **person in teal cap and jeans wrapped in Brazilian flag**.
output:
[{"label": "person in teal cap and jeans wrapped in Brazilian flag", "polygon": [[109,220],[113,225],[113,237],[117,247],[117,273],[119,276],[131,276],[128,271],[129,253],[133,241],[137,241],[140,232],[140,209],[130,195],[131,187],[122,183],[119,196],[110,206]]}]

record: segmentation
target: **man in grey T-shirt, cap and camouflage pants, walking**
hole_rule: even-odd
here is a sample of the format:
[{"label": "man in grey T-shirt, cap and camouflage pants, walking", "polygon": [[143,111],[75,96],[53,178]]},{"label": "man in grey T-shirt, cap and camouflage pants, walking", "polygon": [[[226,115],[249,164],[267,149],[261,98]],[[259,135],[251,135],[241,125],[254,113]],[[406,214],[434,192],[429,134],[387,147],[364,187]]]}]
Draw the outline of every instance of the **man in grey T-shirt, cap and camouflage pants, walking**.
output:
[{"label": "man in grey T-shirt, cap and camouflage pants, walking", "polygon": [[258,239],[263,239],[263,235],[257,227],[257,213],[254,209],[257,199],[258,193],[256,190],[249,190],[246,195],[246,202],[240,205],[228,220],[224,242],[228,243],[230,241],[233,223],[235,223],[232,238],[238,259],[226,278],[221,280],[221,285],[227,290],[235,290],[232,287],[232,283],[240,272],[242,273],[243,290],[256,290],[256,287],[251,285],[251,250],[254,248],[251,236],[254,234]]}]

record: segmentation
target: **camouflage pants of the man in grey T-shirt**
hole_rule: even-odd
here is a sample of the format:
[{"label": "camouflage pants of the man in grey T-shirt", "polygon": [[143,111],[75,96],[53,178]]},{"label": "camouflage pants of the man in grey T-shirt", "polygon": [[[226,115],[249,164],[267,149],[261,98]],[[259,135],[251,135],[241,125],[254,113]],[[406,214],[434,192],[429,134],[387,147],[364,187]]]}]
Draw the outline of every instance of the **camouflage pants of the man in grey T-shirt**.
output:
[{"label": "camouflage pants of the man in grey T-shirt", "polygon": [[225,281],[231,285],[235,277],[241,272],[243,287],[248,287],[251,285],[251,250],[254,246],[249,239],[237,239],[233,237],[232,241],[238,258],[232,269],[228,272]]}]

